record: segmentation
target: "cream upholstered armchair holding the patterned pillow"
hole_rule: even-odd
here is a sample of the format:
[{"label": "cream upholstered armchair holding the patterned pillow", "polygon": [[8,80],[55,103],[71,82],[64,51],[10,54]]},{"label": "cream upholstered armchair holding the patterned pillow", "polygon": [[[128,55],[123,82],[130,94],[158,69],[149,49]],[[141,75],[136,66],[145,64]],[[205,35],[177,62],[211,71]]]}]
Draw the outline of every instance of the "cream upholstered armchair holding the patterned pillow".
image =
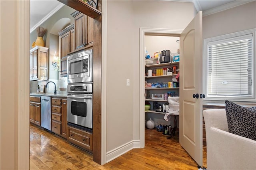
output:
[{"label": "cream upholstered armchair holding the patterned pillow", "polygon": [[225,109],[203,111],[207,170],[256,170],[256,141],[228,132]]}]

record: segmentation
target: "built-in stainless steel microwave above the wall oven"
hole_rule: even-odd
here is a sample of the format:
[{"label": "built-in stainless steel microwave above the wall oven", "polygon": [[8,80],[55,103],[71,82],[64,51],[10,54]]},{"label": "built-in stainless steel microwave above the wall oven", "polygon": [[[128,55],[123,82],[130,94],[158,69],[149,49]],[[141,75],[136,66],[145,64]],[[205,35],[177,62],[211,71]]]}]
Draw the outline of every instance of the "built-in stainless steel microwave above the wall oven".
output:
[{"label": "built-in stainless steel microwave above the wall oven", "polygon": [[92,82],[92,55],[92,49],[68,55],[68,83]]}]

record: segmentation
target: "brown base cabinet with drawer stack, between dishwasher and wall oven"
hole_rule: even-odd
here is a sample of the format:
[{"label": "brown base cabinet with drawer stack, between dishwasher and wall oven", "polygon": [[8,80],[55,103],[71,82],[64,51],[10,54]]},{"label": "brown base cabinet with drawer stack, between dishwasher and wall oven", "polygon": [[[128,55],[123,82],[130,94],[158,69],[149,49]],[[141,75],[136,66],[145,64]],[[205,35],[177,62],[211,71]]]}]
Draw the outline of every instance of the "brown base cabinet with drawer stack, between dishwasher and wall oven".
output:
[{"label": "brown base cabinet with drawer stack, between dishwasher and wall oven", "polygon": [[52,132],[67,138],[67,99],[52,97]]}]

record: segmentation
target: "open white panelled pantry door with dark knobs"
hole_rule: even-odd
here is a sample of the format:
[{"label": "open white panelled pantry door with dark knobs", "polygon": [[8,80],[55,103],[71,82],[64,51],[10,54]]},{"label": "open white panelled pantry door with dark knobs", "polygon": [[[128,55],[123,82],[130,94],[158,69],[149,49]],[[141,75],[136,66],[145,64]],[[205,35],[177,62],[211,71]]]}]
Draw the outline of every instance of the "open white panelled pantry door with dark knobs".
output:
[{"label": "open white panelled pantry door with dark knobs", "polygon": [[202,94],[202,11],[198,12],[180,35],[180,144],[198,165],[202,166],[200,94]]}]

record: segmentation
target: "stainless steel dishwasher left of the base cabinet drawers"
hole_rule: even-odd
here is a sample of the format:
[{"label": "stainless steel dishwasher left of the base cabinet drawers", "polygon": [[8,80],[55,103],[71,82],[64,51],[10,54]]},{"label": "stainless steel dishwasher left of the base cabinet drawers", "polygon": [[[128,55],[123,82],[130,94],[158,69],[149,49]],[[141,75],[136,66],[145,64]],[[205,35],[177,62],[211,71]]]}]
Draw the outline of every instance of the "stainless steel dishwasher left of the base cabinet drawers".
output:
[{"label": "stainless steel dishwasher left of the base cabinet drawers", "polygon": [[52,130],[51,97],[41,96],[41,127]]}]

